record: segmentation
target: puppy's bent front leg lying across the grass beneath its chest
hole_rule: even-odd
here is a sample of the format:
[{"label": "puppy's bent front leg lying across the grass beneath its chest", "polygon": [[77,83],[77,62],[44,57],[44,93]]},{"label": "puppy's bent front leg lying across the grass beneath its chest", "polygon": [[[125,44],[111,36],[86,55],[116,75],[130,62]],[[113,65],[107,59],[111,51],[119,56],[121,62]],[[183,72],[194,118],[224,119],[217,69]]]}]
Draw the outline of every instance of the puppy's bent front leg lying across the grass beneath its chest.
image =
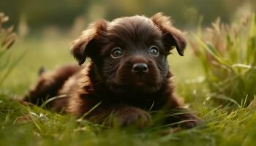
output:
[{"label": "puppy's bent front leg lying across the grass beneath its chest", "polygon": [[87,117],[93,123],[104,123],[106,126],[135,126],[143,128],[151,122],[151,116],[145,110],[130,106],[101,107]]}]

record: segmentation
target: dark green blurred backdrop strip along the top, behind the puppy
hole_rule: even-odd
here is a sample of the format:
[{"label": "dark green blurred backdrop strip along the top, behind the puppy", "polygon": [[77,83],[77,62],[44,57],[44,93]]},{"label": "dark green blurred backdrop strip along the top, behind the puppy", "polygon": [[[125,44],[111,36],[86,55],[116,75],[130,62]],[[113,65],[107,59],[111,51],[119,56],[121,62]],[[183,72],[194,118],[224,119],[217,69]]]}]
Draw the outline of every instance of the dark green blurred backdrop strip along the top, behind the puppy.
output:
[{"label": "dark green blurred backdrop strip along the top, behind the puppy", "polygon": [[[0,11],[10,16],[10,23],[26,23],[31,31],[45,28],[71,28],[78,22],[89,23],[97,18],[113,20],[121,16],[164,12],[176,26],[192,28],[203,16],[207,25],[218,17],[230,22],[240,9],[255,10],[255,0],[1,0]],[[244,13],[244,12],[243,12]]]}]

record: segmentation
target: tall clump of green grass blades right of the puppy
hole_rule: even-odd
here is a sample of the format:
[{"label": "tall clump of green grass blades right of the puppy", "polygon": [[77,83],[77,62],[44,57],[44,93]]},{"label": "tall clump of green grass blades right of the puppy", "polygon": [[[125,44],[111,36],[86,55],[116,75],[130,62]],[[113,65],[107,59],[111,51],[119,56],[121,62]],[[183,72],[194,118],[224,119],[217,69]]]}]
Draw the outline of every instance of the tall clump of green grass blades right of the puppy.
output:
[{"label": "tall clump of green grass blades right of the puppy", "polygon": [[199,26],[194,37],[191,46],[203,66],[209,97],[238,106],[255,99],[255,14],[232,24],[218,18],[206,30]]}]

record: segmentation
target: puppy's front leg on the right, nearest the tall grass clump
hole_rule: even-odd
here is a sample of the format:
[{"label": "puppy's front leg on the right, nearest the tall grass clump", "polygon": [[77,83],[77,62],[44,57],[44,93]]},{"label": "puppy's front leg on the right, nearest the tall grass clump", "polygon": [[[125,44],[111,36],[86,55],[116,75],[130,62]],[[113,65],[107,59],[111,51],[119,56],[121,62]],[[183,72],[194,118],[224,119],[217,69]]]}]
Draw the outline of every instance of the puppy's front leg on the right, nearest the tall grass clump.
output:
[{"label": "puppy's front leg on the right, nearest the tall grass clump", "polygon": [[200,118],[185,108],[177,96],[172,94],[169,97],[169,103],[171,104],[167,108],[169,110],[167,118],[165,118],[165,123],[172,126],[181,126],[181,128],[193,128],[201,123]]}]

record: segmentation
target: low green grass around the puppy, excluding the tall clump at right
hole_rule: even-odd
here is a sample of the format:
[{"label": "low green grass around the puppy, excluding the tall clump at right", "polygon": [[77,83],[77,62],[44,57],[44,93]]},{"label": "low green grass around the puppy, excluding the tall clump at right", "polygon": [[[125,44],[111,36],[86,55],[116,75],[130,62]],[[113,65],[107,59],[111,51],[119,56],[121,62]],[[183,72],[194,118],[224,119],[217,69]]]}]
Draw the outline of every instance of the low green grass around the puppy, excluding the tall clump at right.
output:
[{"label": "low green grass around the puppy, excluding the tall clump at right", "polygon": [[[36,106],[24,106],[12,100],[22,96],[29,86],[34,85],[41,66],[53,69],[61,64],[75,64],[68,50],[71,41],[61,36],[25,37],[18,39],[7,55],[1,58],[1,61],[8,56],[18,58],[25,53],[1,85],[0,145],[255,145],[255,102],[246,101],[243,97],[243,102],[237,102],[236,108],[230,108],[229,104],[212,100],[210,97],[213,93],[222,93],[211,88],[209,77],[215,75],[209,75],[211,72],[207,73],[201,65],[211,66],[211,61],[204,62],[202,58],[197,58],[193,55],[192,47],[188,47],[184,57],[173,52],[168,59],[170,69],[176,74],[174,80],[177,93],[205,121],[205,128],[176,132],[175,129],[159,125],[140,130],[118,127],[106,129],[86,120],[76,120],[72,116],[59,115]],[[201,42],[198,41],[198,44],[202,45]],[[207,51],[206,48],[201,49]],[[186,72],[183,66],[186,66]],[[227,97],[232,99],[230,95]]]}]

